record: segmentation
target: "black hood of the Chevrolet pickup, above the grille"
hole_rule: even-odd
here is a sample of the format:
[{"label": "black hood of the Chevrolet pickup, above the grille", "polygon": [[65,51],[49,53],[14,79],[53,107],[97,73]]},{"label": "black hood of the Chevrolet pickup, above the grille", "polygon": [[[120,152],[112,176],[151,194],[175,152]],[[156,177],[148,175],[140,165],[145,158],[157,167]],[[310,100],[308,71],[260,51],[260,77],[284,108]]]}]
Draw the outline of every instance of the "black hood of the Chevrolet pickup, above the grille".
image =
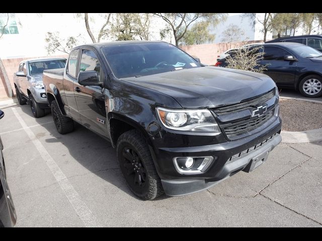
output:
[{"label": "black hood of the Chevrolet pickup, above the grille", "polygon": [[276,86],[265,74],[212,66],[122,80],[170,95],[184,108],[234,104]]}]

